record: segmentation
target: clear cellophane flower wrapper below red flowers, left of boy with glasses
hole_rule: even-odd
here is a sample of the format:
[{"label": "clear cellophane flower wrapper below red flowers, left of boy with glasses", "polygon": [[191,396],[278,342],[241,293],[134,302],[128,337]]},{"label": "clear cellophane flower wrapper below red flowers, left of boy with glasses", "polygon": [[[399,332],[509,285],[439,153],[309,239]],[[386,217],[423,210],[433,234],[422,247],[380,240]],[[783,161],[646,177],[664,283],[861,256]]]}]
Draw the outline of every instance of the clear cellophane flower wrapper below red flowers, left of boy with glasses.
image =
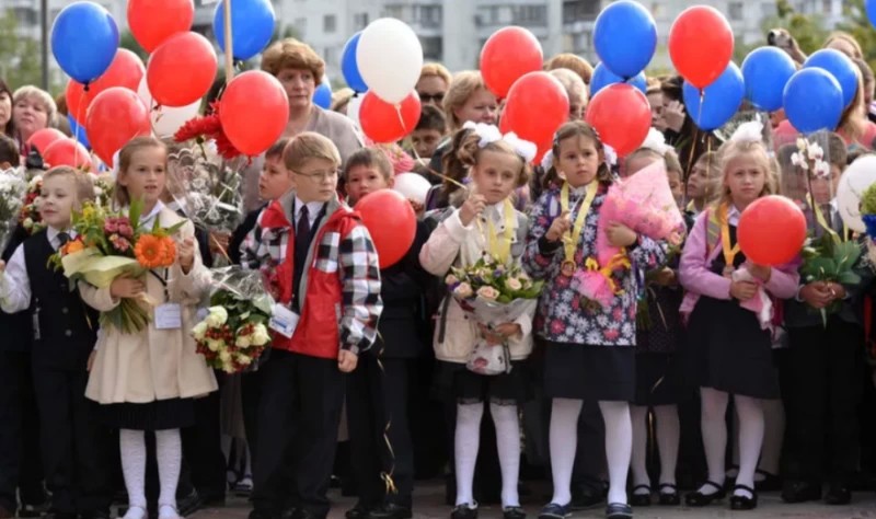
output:
[{"label": "clear cellophane flower wrapper below red flowers, left of boy with glasses", "polygon": [[207,147],[183,148],[168,158],[168,192],[195,226],[230,234],[244,217],[245,163],[224,160]]}]

